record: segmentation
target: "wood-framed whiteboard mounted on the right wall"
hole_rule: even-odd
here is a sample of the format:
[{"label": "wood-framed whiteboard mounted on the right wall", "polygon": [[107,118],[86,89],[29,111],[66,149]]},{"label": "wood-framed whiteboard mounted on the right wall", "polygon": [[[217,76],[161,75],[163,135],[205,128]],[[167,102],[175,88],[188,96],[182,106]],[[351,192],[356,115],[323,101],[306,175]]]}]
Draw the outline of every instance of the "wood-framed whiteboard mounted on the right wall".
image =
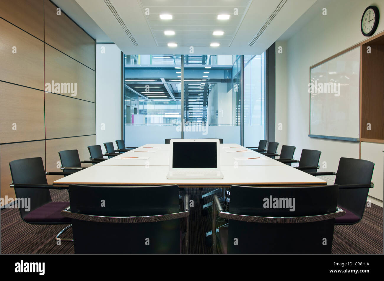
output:
[{"label": "wood-framed whiteboard mounted on the right wall", "polygon": [[359,81],[360,47],[310,69],[310,136],[359,139]]}]

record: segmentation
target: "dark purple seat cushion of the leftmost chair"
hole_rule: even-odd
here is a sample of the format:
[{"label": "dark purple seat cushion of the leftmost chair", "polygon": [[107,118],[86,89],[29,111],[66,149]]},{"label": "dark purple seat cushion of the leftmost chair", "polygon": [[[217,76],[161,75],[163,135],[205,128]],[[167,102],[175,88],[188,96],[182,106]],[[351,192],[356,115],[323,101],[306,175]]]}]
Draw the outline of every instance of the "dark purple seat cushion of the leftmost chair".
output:
[{"label": "dark purple seat cushion of the leftmost chair", "polygon": [[30,211],[24,217],[27,222],[41,223],[71,223],[71,219],[63,217],[60,212],[70,205],[70,202],[49,202],[37,209]]}]

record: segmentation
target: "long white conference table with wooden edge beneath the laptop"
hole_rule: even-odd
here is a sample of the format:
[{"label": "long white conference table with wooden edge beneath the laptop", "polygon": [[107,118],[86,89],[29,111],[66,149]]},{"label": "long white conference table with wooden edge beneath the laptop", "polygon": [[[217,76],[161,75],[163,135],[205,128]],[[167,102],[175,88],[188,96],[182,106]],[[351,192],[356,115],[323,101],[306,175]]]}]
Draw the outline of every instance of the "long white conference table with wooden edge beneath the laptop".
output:
[{"label": "long white conference table with wooden edge beneath the laptop", "polygon": [[167,179],[169,149],[169,144],[146,144],[58,179],[53,185],[64,187],[70,184],[121,186],[177,184],[189,187],[229,187],[234,184],[246,186],[327,184],[322,179],[235,143],[220,144],[220,169],[224,175],[223,179]]}]

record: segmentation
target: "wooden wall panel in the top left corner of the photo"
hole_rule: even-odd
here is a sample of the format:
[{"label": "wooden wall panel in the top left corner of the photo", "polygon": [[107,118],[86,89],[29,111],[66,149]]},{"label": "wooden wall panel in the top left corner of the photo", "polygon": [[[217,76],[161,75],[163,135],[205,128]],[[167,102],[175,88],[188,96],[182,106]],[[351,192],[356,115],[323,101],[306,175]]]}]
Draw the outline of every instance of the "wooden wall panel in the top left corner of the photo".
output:
[{"label": "wooden wall panel in the top left corner of the photo", "polygon": [[44,41],[44,0],[0,0],[0,16]]}]

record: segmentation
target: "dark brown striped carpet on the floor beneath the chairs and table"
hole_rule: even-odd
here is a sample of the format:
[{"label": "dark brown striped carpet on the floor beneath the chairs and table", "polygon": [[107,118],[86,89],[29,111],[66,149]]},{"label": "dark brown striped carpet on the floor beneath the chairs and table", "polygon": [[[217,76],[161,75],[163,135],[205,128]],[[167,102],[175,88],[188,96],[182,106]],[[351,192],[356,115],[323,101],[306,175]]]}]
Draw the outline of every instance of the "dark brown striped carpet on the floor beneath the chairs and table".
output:
[{"label": "dark brown striped carpet on the floor beneath the chairs and table", "polygon": [[[202,216],[199,195],[214,188],[185,188],[180,195],[189,194],[194,200],[194,207],[189,216],[189,253],[210,254],[212,247],[205,245],[204,233],[211,228],[211,213]],[[67,201],[68,192],[51,190],[53,201]],[[209,202],[211,198],[205,198]],[[220,225],[223,222],[217,222]],[[65,225],[31,225],[20,218],[17,209],[1,210],[1,253],[74,253],[73,242],[61,242],[56,245],[53,238]],[[182,223],[182,227],[184,227]],[[63,235],[71,237],[72,231]],[[337,225],[334,229],[332,253],[334,254],[379,254],[382,253],[383,208],[372,204],[366,207],[363,219],[355,225]],[[184,249],[184,245],[183,245]],[[221,253],[218,245],[217,253]]]}]

